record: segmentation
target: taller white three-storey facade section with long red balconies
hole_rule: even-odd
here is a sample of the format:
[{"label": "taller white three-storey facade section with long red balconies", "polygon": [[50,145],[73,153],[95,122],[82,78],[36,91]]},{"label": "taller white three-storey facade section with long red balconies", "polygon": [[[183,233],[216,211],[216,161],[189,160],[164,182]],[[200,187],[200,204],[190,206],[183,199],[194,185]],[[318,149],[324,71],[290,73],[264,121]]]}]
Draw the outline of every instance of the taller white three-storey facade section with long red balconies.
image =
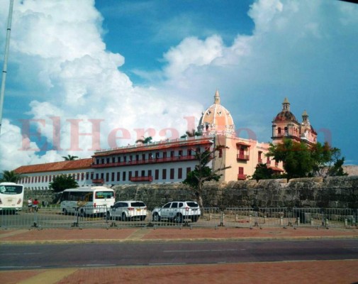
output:
[{"label": "taller white three-storey facade section with long red balconies", "polygon": [[211,136],[178,138],[96,151],[92,156],[94,183],[181,182],[194,170],[195,151],[213,144]]}]

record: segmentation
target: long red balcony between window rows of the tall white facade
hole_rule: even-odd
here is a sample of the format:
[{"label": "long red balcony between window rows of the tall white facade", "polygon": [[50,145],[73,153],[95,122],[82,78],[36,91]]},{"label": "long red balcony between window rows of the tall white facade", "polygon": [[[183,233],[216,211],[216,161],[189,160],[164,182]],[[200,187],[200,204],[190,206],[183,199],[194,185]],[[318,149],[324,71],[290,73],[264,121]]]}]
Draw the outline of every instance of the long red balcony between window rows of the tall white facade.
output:
[{"label": "long red balcony between window rows of the tall white facade", "polygon": [[185,160],[195,160],[195,155],[181,155],[175,157],[167,158],[149,158],[145,160],[128,160],[126,162],[117,162],[117,163],[104,163],[104,164],[91,164],[91,168],[113,168],[113,167],[122,167],[125,165],[145,165],[145,164],[154,164],[154,163],[171,163],[171,162],[181,162]]}]

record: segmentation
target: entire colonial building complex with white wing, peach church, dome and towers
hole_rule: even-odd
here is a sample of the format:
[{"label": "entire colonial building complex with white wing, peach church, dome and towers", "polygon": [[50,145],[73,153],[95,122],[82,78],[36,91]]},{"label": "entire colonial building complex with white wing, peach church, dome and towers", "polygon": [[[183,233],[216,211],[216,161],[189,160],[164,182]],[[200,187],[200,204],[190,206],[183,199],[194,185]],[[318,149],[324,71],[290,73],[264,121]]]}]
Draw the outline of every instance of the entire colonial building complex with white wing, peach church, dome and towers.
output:
[{"label": "entire colonial building complex with white wing, peach church, dome and towers", "polygon": [[[302,124],[289,111],[289,102],[273,121],[273,141],[284,136],[315,141],[315,132],[305,112]],[[301,133],[306,136],[302,136]],[[258,163],[266,163],[276,172],[283,172],[281,163],[265,156],[269,143],[237,137],[230,111],[220,104],[216,91],[214,103],[203,111],[198,123],[201,136],[136,143],[109,150],[96,151],[89,159],[25,165],[16,169],[24,175],[21,182],[30,189],[47,189],[49,182],[60,174],[72,175],[79,185],[123,185],[182,182],[194,170],[196,151],[225,146],[213,155],[208,164],[213,170],[230,166],[220,174],[222,181],[246,180],[253,175]]]}]

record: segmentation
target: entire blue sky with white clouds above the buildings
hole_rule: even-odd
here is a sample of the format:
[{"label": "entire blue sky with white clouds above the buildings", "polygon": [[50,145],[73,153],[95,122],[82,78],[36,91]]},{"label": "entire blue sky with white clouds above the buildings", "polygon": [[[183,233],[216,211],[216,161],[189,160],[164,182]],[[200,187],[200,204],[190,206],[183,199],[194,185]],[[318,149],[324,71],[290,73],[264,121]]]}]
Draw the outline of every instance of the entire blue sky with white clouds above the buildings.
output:
[{"label": "entire blue sky with white clouds above the buildings", "polygon": [[216,89],[238,136],[270,142],[287,97],[358,165],[357,26],[337,0],[14,0],[0,170],[178,138]]}]

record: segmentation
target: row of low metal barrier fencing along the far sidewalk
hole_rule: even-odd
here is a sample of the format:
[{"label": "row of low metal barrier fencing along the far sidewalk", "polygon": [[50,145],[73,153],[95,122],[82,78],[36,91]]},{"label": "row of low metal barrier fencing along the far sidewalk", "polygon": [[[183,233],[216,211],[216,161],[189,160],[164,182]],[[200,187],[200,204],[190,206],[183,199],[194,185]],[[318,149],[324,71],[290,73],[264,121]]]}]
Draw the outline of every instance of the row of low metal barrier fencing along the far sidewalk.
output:
[{"label": "row of low metal barrier fencing along the far sidewalk", "polygon": [[[93,211],[95,210],[95,211]],[[92,212],[98,212],[92,214]],[[358,209],[346,208],[203,208],[200,215],[172,210],[167,217],[157,218],[150,210],[125,212],[107,207],[80,207],[72,213],[59,207],[41,207],[21,211],[0,211],[0,227],[8,228],[125,228],[125,227],[269,227],[269,226],[357,226]],[[182,213],[182,214],[181,214]],[[181,215],[181,216],[179,216]]]}]

